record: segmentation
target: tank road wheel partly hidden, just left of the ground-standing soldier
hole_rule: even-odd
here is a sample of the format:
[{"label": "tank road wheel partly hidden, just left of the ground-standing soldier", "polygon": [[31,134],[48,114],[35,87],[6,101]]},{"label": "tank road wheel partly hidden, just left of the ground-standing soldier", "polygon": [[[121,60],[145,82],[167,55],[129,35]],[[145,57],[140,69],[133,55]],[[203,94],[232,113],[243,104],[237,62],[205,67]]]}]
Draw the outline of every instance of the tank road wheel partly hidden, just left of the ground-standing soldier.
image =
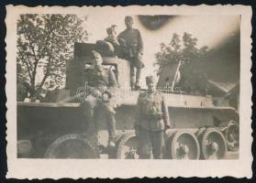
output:
[{"label": "tank road wheel partly hidden, just left of the ground-standing soldier", "polygon": [[134,133],[124,135],[117,146],[118,159],[139,159],[139,140]]}]

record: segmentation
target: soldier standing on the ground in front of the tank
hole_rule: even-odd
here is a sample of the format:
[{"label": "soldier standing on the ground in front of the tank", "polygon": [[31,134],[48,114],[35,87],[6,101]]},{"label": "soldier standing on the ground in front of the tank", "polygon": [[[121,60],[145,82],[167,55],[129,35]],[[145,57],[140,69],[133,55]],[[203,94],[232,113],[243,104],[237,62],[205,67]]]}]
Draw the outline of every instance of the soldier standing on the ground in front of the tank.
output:
[{"label": "soldier standing on the ground in front of the tank", "polygon": [[148,91],[139,94],[135,117],[135,132],[139,137],[139,158],[161,159],[164,133],[170,128],[169,113],[161,92],[157,92],[152,76],[146,77]]}]

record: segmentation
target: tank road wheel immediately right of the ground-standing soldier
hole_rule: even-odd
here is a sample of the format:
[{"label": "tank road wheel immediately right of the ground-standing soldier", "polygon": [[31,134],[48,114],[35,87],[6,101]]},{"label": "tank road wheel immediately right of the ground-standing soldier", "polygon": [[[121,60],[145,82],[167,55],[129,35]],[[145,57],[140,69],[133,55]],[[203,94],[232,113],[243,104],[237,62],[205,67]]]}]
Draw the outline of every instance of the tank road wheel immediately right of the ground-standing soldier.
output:
[{"label": "tank road wheel immediately right of the ground-standing soldier", "polygon": [[166,157],[172,159],[198,159],[200,146],[194,133],[177,131],[166,142]]}]

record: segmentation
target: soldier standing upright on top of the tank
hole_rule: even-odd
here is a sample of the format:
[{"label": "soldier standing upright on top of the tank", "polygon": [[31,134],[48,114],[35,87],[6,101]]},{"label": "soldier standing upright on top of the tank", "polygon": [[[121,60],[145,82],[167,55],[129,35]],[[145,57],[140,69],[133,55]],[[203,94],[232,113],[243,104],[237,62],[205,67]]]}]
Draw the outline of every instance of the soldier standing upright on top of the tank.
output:
[{"label": "soldier standing upright on top of the tank", "polygon": [[120,42],[121,48],[124,49],[124,59],[128,59],[128,61],[130,62],[131,89],[138,90],[140,88],[140,70],[144,67],[144,64],[141,62],[143,55],[143,42],[139,30],[132,28],[133,19],[131,16],[125,17],[125,24],[127,29],[121,32],[118,35],[118,38],[124,40],[124,43]]}]

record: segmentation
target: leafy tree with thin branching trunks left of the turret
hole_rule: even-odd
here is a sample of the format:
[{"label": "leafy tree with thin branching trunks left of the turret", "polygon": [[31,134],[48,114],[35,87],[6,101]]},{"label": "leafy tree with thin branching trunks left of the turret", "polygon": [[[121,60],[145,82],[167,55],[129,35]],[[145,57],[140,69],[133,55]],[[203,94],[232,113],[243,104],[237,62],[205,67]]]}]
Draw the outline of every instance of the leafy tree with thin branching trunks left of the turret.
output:
[{"label": "leafy tree with thin branching trunks left of the turret", "polygon": [[63,84],[66,60],[72,58],[74,42],[87,40],[84,21],[76,15],[20,16],[17,63],[26,73],[31,96],[39,94],[48,80],[55,81],[57,86]]}]

